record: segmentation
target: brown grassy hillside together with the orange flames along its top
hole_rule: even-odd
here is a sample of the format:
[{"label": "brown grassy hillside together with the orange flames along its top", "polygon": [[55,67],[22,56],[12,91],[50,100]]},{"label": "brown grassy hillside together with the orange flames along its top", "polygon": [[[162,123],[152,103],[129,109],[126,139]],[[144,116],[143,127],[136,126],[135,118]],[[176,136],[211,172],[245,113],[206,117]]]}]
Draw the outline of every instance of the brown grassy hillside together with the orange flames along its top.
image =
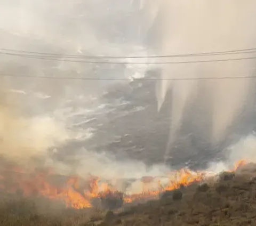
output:
[{"label": "brown grassy hillside together with the orange flames along its top", "polygon": [[[226,172],[214,185],[198,185],[205,179],[204,172],[181,170],[170,175],[167,185],[158,181],[158,190],[146,190],[154,178],[144,177],[141,183],[145,190],[127,195],[106,182],[100,184],[98,177],[85,181],[55,175],[49,169],[28,172],[17,165],[2,164],[0,225],[211,225],[233,217],[238,209],[249,211],[251,204],[246,200],[254,204],[256,180],[244,165],[244,161],[238,162],[233,170],[245,169],[243,176]],[[251,168],[256,169],[254,165]],[[146,203],[149,199],[155,201]],[[244,207],[240,208],[242,202]],[[146,204],[134,206],[138,203]],[[233,209],[234,205],[239,208]]]}]

